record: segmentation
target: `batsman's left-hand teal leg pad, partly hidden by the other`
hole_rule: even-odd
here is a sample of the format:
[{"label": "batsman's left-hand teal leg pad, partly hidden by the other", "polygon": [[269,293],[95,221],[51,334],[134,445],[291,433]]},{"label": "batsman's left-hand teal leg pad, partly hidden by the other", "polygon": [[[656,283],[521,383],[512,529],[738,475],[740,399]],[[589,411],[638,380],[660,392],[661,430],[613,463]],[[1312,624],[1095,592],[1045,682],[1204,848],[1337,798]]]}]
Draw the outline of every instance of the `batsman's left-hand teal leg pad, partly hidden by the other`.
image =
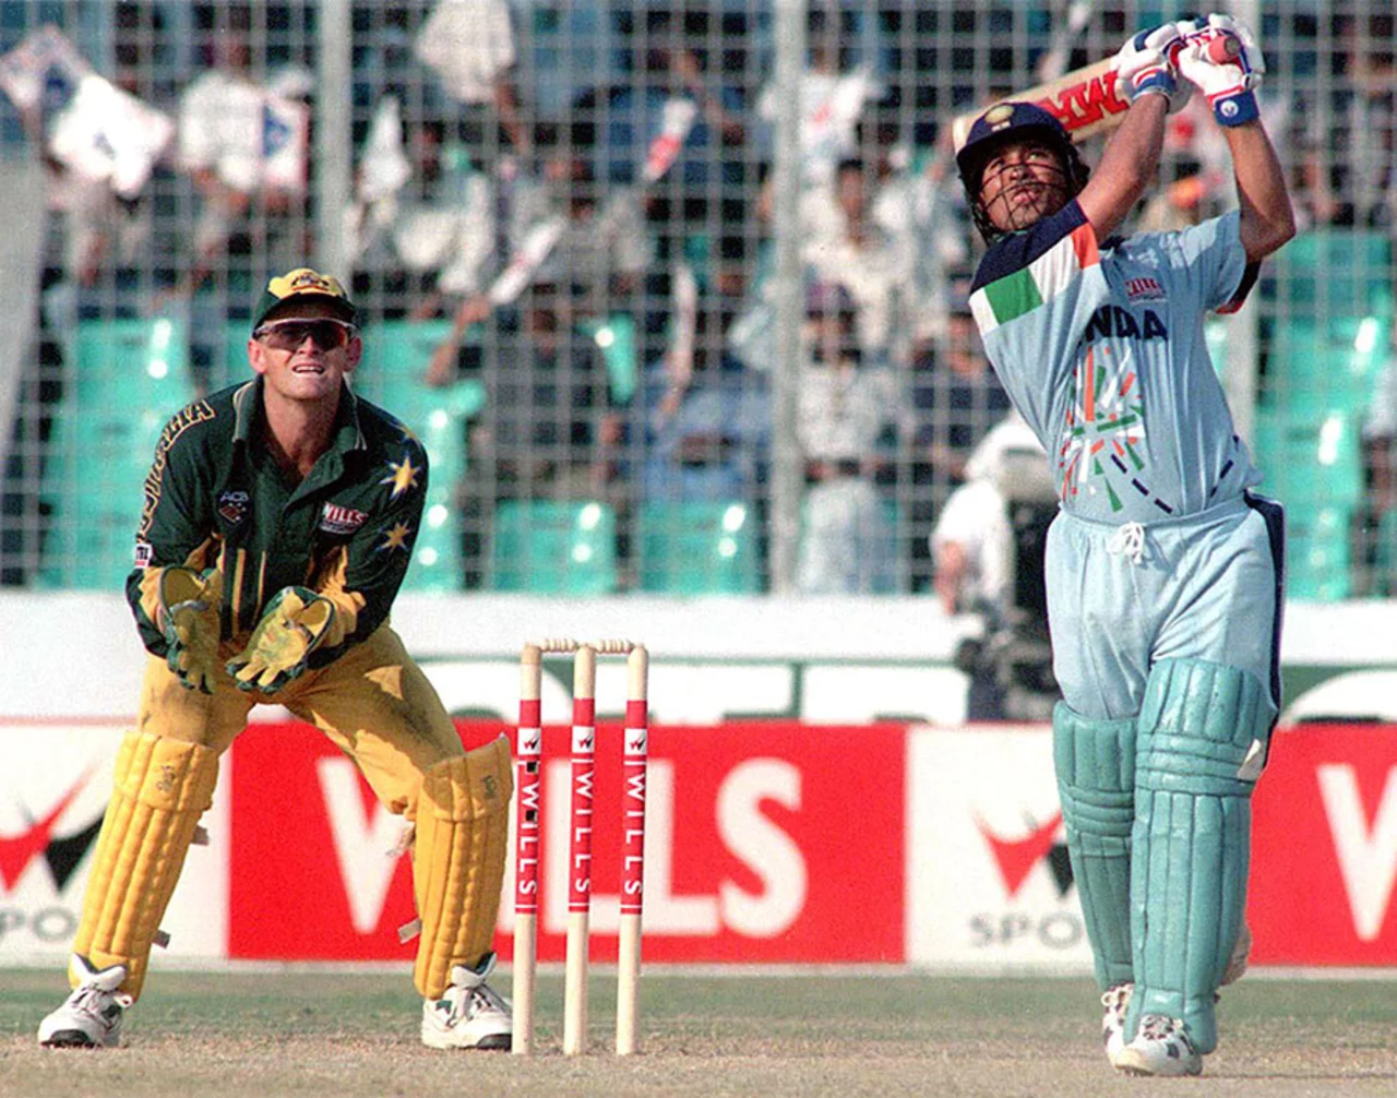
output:
[{"label": "batsman's left-hand teal leg pad, partly hidden by the other", "polygon": [[1088,721],[1058,703],[1053,770],[1071,876],[1101,990],[1134,979],[1130,953],[1130,827],[1134,823],[1136,718]]}]

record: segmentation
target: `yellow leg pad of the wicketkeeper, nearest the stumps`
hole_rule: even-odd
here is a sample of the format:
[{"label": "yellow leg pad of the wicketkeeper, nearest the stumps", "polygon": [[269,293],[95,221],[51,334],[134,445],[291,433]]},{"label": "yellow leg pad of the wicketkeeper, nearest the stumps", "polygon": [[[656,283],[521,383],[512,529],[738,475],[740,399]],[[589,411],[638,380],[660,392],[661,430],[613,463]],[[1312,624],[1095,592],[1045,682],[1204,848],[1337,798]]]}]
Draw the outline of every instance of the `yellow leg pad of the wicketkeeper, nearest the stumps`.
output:
[{"label": "yellow leg pad of the wicketkeeper, nearest the stumps", "polygon": [[425,999],[440,999],[451,967],[474,967],[495,942],[513,792],[504,736],[422,777],[412,858],[422,940],[412,979]]}]

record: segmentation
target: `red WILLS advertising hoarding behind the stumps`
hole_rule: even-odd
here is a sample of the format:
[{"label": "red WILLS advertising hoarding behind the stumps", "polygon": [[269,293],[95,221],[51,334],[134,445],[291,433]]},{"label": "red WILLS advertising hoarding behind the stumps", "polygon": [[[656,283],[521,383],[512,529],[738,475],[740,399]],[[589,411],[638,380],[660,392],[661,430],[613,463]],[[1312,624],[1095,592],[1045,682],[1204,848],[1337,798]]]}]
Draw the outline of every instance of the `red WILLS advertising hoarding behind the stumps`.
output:
[{"label": "red WILLS advertising hoarding behind the stumps", "polygon": [[[468,746],[500,733],[496,722],[458,724]],[[598,728],[592,956],[602,961],[616,954],[620,735]],[[563,956],[567,742],[569,729],[545,731],[542,960]],[[902,962],[905,757],[905,725],[652,728],[647,960]],[[412,956],[397,937],[415,915],[411,870],[390,855],[402,821],[348,759],[305,725],[260,725],[236,740],[226,779],[231,957]]]}]

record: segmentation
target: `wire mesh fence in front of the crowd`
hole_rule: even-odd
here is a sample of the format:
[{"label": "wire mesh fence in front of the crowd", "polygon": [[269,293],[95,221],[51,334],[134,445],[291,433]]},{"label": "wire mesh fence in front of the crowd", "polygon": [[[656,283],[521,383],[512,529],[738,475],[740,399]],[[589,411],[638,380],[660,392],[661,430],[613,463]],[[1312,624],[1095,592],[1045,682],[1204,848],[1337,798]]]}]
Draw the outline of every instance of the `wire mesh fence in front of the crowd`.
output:
[{"label": "wire mesh fence in front of the crowd", "polygon": [[[1180,13],[802,11],[781,70],[757,0],[4,4],[0,282],[25,307],[0,321],[0,583],[119,585],[165,418],[247,377],[268,277],[324,264],[366,317],[356,391],[432,454],[409,585],[929,592],[929,534],[1009,411],[968,316],[950,119]],[[1235,14],[1302,233],[1210,346],[1289,507],[1292,595],[1390,595],[1391,14]],[[1206,110],[1175,116],[1132,228],[1234,204]]]}]

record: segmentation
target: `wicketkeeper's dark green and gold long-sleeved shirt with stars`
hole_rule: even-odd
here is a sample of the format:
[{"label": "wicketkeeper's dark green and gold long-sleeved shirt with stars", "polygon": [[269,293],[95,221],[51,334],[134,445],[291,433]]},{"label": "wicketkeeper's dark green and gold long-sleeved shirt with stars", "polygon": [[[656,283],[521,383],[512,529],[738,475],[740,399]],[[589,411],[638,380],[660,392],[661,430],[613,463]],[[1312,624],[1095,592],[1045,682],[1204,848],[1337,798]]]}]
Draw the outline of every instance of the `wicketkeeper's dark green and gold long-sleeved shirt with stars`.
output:
[{"label": "wicketkeeper's dark green and gold long-sleeved shirt with stars", "polygon": [[263,441],[261,391],[257,377],[196,401],[161,434],[126,581],[155,655],[166,644],[152,592],[168,566],[224,574],[224,640],[251,633],[285,587],[328,598],[337,626],[313,652],[313,668],[373,633],[407,574],[426,497],[422,443],[346,386],[330,448],[295,483]]}]

